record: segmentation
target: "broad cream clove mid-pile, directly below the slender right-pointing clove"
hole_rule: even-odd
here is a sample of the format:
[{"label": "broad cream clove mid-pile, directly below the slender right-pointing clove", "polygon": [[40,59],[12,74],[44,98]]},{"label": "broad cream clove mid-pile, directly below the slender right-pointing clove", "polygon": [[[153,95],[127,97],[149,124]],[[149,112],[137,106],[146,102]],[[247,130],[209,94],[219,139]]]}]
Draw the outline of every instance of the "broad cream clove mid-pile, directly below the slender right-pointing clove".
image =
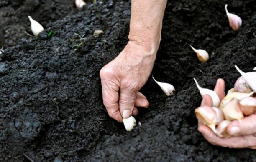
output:
[{"label": "broad cream clove mid-pile, directly below the slender right-pointing clove", "polygon": [[240,104],[233,99],[223,107],[223,114],[226,120],[241,120],[244,118]]}]

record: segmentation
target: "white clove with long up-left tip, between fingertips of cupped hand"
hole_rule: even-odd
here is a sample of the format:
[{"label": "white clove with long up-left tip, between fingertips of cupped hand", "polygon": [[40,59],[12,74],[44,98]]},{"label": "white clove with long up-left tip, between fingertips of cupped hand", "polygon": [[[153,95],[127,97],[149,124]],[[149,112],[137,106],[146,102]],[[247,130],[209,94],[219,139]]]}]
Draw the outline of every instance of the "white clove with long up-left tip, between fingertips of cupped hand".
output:
[{"label": "white clove with long up-left tip, between fingertips of cupped hand", "polygon": [[194,80],[198,90],[200,91],[201,96],[203,97],[203,95],[210,95],[210,97],[212,97],[213,107],[218,107],[220,105],[220,98],[217,93],[213,90],[200,87],[200,85],[197,83],[197,80],[195,78]]}]

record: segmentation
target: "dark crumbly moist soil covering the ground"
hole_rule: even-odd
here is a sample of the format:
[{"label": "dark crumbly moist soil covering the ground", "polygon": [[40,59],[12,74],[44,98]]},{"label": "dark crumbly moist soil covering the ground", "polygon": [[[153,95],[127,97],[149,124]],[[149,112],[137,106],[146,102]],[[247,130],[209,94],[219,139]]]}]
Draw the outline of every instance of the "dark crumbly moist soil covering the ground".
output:
[{"label": "dark crumbly moist soil covering the ground", "polygon": [[[128,41],[130,2],[98,1],[82,11],[72,0],[34,2],[0,5],[0,161],[256,161],[254,150],[213,146],[197,131],[201,97],[192,80],[213,88],[221,77],[229,89],[239,77],[234,65],[256,66],[254,0],[168,1],[152,74],[177,94],[164,97],[150,78],[141,92],[151,106],[140,110],[141,126],[131,132],[108,117],[99,78]],[[238,32],[228,25],[225,3],[243,19]],[[24,34],[28,14],[51,27],[49,40]],[[95,38],[94,30],[104,33]],[[189,44],[210,60],[200,63]]]}]

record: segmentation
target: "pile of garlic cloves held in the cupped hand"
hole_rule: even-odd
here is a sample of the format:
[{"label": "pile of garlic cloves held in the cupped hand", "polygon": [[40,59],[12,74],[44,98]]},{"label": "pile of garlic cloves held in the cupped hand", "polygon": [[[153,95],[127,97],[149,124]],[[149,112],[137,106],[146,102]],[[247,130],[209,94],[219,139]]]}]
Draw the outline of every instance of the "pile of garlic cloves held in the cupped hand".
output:
[{"label": "pile of garlic cloves held in the cupped hand", "polygon": [[220,101],[218,95],[209,89],[198,85],[201,95],[210,95],[214,107],[201,106],[195,109],[197,119],[207,125],[219,137],[230,137],[227,127],[233,120],[252,115],[256,111],[256,72],[243,72],[235,66],[242,75],[236,80],[234,88]]}]

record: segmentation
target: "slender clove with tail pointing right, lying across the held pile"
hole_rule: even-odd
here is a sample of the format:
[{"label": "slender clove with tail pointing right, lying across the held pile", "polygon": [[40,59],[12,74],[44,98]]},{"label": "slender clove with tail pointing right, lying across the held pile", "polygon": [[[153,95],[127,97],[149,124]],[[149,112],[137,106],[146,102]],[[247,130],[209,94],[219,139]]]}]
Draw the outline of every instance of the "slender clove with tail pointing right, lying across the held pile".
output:
[{"label": "slender clove with tail pointing right, lying across the held pile", "polygon": [[253,95],[254,92],[251,93],[240,93],[240,92],[233,92],[233,93],[229,93],[228,95],[226,95],[220,102],[220,106],[219,109],[222,109],[223,107],[225,107],[225,105],[230,102],[230,100],[232,99],[236,99],[236,100],[242,100],[245,97],[250,97],[251,95]]}]

